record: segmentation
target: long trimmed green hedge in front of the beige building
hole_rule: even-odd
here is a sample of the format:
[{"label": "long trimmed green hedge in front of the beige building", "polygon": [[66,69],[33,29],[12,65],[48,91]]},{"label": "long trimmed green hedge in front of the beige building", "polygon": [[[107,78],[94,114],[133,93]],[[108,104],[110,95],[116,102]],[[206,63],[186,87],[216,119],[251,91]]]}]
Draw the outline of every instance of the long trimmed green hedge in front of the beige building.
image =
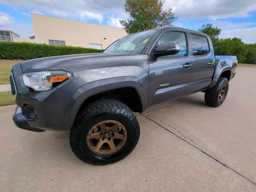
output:
[{"label": "long trimmed green hedge in front of the beige building", "polygon": [[0,42],[0,59],[27,60],[58,55],[102,53],[103,51],[84,47],[53,46],[30,42]]}]

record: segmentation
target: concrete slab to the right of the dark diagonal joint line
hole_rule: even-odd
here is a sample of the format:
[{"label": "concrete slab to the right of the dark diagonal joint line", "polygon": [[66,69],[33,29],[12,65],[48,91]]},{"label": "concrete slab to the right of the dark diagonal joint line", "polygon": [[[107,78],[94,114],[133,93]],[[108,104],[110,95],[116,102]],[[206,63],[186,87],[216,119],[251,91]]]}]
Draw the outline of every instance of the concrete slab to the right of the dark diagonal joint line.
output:
[{"label": "concrete slab to the right of the dark diagonal joint line", "polygon": [[217,108],[197,93],[144,115],[256,183],[256,67],[236,69]]}]

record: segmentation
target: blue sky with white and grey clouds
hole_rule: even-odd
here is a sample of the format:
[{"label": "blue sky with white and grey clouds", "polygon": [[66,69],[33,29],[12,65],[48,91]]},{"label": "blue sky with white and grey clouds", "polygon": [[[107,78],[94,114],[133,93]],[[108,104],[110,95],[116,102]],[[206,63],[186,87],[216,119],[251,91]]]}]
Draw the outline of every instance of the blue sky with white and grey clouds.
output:
[{"label": "blue sky with white and grey clouds", "polygon": [[[121,27],[127,19],[123,0],[1,0],[0,28],[21,37],[33,35],[30,13]],[[198,30],[203,23],[222,29],[221,38],[239,37],[256,42],[256,0],[166,0],[163,9],[173,8],[174,26]]]}]

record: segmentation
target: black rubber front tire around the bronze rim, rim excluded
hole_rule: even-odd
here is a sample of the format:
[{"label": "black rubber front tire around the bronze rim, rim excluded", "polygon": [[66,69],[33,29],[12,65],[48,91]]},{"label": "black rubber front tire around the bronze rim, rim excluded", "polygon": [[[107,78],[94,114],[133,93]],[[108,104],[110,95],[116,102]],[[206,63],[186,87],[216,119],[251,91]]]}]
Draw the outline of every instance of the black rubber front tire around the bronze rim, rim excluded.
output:
[{"label": "black rubber front tire around the bronze rim, rim excluded", "polygon": [[[125,138],[126,142],[121,150],[102,156],[90,150],[86,137],[91,127],[106,120],[120,122],[126,129],[127,139]],[[127,105],[114,99],[100,99],[88,104],[77,115],[70,130],[70,146],[74,154],[83,162],[93,165],[112,164],[122,160],[133,151],[139,141],[139,133],[139,123]]]}]

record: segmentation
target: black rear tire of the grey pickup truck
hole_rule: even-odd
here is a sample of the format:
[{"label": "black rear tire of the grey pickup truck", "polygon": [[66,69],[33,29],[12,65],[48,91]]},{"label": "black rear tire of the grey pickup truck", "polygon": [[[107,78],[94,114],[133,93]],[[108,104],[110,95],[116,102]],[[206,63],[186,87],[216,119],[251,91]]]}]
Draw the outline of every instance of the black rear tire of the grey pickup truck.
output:
[{"label": "black rear tire of the grey pickup truck", "polygon": [[[216,85],[214,85],[211,89],[208,89],[205,92],[205,103],[211,107],[219,107],[227,97],[228,91],[228,80],[225,77],[220,77],[217,81]],[[225,94],[223,96],[219,96],[220,91],[225,88]],[[221,99],[220,99],[221,98]]]}]

